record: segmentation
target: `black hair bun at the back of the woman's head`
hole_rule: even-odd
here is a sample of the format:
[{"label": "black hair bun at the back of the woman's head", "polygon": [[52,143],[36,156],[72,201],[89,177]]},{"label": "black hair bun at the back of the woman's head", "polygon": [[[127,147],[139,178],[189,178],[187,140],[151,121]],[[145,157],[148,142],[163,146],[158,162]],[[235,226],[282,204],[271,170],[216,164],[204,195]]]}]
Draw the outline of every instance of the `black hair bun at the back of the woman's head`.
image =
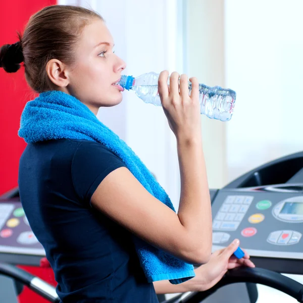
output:
[{"label": "black hair bun at the back of the woman's head", "polygon": [[8,73],[15,73],[23,62],[23,53],[21,42],[14,44],[5,44],[0,48],[0,67]]}]

